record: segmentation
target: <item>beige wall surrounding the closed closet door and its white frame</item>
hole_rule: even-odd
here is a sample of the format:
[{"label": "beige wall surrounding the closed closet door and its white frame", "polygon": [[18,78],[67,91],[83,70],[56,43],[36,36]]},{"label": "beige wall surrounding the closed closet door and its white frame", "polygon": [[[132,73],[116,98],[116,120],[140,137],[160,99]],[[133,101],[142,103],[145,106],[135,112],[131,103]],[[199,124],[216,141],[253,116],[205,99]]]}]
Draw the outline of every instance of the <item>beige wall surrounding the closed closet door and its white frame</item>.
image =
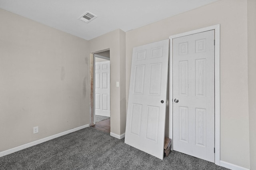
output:
[{"label": "beige wall surrounding the closed closet door and its white frame", "polygon": [[132,48],[220,24],[220,160],[250,168],[247,1],[220,0],[126,33],[126,101]]}]

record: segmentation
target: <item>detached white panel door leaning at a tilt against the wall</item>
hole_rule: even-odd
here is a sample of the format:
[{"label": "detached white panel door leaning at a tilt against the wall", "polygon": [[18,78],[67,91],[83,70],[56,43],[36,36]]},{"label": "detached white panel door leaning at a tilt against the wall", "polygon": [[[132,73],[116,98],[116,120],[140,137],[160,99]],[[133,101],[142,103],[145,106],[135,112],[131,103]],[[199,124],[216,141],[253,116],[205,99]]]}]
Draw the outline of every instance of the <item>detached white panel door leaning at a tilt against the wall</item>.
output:
[{"label": "detached white panel door leaning at a tilt against the wall", "polygon": [[163,159],[169,40],[134,47],[126,144]]}]

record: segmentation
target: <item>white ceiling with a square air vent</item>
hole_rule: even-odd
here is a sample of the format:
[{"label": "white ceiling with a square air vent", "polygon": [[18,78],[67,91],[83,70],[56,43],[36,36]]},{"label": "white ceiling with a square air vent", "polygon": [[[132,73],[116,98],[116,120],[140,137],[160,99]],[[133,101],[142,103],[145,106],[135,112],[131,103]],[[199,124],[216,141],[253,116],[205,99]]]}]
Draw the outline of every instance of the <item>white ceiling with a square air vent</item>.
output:
[{"label": "white ceiling with a square air vent", "polygon": [[[120,28],[124,32],[217,0],[0,0],[0,8],[85,40]],[[89,11],[89,23],[78,18]]]}]

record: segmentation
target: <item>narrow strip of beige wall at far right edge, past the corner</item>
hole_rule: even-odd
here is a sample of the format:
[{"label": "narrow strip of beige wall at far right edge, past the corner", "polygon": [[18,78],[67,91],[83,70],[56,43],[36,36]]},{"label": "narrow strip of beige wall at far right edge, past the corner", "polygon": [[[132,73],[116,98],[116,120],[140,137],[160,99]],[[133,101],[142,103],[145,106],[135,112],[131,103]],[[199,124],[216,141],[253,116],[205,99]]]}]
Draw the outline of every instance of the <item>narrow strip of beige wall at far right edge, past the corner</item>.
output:
[{"label": "narrow strip of beige wall at far right edge, past the corner", "polygon": [[248,0],[248,84],[250,163],[256,170],[256,0]]}]

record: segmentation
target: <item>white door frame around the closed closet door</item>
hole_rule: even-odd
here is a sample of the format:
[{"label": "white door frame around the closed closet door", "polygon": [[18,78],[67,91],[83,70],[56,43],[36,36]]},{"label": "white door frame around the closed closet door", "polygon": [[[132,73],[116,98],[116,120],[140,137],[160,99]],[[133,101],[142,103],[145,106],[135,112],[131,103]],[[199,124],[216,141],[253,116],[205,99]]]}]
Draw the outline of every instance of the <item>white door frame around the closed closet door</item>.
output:
[{"label": "white door frame around the closed closet door", "polygon": [[215,88],[215,164],[220,165],[220,24],[214,25],[214,26],[209,26],[206,28],[201,28],[198,30],[193,30],[189,32],[184,32],[181,34],[176,34],[173,36],[170,36],[170,58],[169,58],[169,137],[173,138],[173,103],[172,103],[172,94],[173,94],[173,80],[172,80],[172,43],[174,38],[178,37],[183,37],[183,36],[188,36],[191,34],[197,34],[200,32],[206,32],[214,30],[215,33],[215,49],[214,49],[214,88]]}]

